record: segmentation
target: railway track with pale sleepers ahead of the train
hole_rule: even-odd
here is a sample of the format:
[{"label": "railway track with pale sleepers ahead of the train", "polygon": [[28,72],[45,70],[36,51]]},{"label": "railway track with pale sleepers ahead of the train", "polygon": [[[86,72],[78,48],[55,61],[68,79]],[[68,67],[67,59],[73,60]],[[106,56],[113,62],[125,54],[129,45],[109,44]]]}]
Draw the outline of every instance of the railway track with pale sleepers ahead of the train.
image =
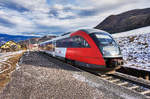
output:
[{"label": "railway track with pale sleepers ahead of the train", "polygon": [[120,72],[115,72],[114,74],[101,75],[100,73],[96,73],[88,69],[80,69],[90,72],[96,76],[99,76],[104,81],[107,81],[111,84],[115,84],[134,93],[143,95],[146,99],[150,99],[150,81],[123,74]]}]

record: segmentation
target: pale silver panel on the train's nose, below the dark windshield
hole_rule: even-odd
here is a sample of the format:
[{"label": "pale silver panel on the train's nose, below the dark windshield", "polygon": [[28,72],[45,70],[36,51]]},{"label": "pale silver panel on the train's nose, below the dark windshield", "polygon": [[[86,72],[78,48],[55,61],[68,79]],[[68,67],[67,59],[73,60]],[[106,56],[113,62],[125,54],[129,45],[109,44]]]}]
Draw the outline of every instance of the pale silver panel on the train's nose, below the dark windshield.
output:
[{"label": "pale silver panel on the train's nose, below the dark windshield", "polygon": [[104,46],[102,49],[104,56],[115,56],[119,55],[119,48],[115,46]]}]

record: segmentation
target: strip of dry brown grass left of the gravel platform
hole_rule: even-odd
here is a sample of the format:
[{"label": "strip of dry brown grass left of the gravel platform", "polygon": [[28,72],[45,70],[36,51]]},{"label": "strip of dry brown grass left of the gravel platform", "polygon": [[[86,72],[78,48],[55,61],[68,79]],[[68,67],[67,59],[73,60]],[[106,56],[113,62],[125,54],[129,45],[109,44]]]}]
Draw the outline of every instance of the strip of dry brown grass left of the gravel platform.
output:
[{"label": "strip of dry brown grass left of the gravel platform", "polygon": [[[16,64],[22,55],[23,53],[13,55],[11,58],[5,61],[6,64],[3,64],[6,66],[4,66],[4,72],[0,73],[0,91],[10,81],[11,72],[13,72],[16,69]],[[10,64],[11,67],[8,66],[8,64]]]}]

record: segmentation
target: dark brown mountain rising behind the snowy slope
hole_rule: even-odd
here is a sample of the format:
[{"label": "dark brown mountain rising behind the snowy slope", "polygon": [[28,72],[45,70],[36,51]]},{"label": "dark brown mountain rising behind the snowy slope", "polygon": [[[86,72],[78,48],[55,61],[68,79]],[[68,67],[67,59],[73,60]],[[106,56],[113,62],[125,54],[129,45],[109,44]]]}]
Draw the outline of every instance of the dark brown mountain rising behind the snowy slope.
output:
[{"label": "dark brown mountain rising behind the snowy slope", "polygon": [[110,15],[95,28],[113,34],[145,26],[150,26],[150,8],[135,9],[118,15]]}]

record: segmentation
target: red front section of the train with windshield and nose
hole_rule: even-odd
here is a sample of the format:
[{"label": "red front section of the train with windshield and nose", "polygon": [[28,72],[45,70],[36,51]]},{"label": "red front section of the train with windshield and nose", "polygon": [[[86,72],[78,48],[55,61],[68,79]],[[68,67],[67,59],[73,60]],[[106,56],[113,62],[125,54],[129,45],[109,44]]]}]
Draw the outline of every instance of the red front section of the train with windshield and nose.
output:
[{"label": "red front section of the train with windshield and nose", "polygon": [[111,70],[123,64],[120,48],[109,33],[96,29],[79,30],[70,34],[80,47],[70,47],[66,59],[80,66]]}]

